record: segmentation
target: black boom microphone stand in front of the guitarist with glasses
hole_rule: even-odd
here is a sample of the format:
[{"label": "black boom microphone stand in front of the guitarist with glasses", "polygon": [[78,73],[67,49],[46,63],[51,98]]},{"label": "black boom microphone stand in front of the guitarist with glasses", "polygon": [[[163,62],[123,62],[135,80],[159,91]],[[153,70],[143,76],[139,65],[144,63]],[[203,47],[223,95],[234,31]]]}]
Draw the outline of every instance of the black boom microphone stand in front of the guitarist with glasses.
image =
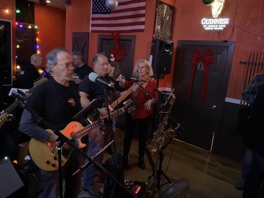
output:
[{"label": "black boom microphone stand in front of the guitarist with glasses", "polygon": [[32,113],[37,118],[37,122],[42,122],[45,124],[49,129],[53,131],[54,134],[58,136],[57,140],[55,141],[55,146],[58,150],[58,165],[59,165],[59,197],[63,198],[63,187],[62,187],[62,163],[61,163],[61,147],[64,143],[67,143],[72,148],[75,148],[78,152],[80,152],[83,156],[85,156],[91,163],[93,163],[99,170],[105,172],[111,179],[113,179],[117,184],[119,184],[125,191],[127,191],[130,195],[132,195],[134,198],[138,198],[137,195],[130,192],[123,184],[121,184],[111,173],[109,173],[102,165],[97,163],[93,158],[91,158],[86,152],[84,152],[82,149],[78,148],[74,144],[74,140],[69,140],[67,137],[65,137],[60,131],[54,129],[50,124],[41,116],[39,116],[31,107],[29,107],[25,103],[25,95],[22,95],[21,93],[18,95],[18,93],[14,92],[12,93],[12,96],[17,98],[19,101],[19,105],[28,110],[30,113]]}]

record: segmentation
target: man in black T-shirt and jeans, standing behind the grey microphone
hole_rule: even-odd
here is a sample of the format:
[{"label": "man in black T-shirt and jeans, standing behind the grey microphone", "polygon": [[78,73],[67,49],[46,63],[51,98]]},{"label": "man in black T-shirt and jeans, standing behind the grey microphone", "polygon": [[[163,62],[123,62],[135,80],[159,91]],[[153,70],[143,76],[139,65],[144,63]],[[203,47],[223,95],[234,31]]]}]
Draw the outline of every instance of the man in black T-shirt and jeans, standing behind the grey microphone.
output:
[{"label": "man in black T-shirt and jeans, standing behind the grey microphone", "polygon": [[[96,54],[94,56],[93,62],[94,62],[95,73],[91,72],[83,79],[82,83],[79,85],[79,94],[81,97],[82,107],[87,106],[93,99],[98,99],[100,97],[106,98],[105,89],[106,89],[106,95],[107,96],[111,95],[109,87],[107,88],[106,86],[107,84],[106,74],[109,68],[109,63],[106,55],[104,53]],[[107,100],[107,103],[110,104],[110,101]],[[100,112],[100,116],[107,115],[106,107],[98,108],[98,111]],[[87,150],[87,154],[89,156],[93,157],[97,152],[100,151],[100,149],[104,148],[104,146],[106,146],[110,142],[111,133],[109,131],[109,127],[111,126],[108,126],[107,129],[104,130],[104,133],[102,133],[102,130],[100,128],[95,129],[93,133],[96,133],[98,135],[96,139],[93,139],[92,137],[89,136],[89,147]],[[100,155],[98,155],[95,158],[95,160],[99,164],[102,163],[103,155],[104,152],[102,152]],[[102,193],[94,186],[95,174],[96,174],[95,167],[93,164],[91,164],[83,172],[82,187],[83,190],[88,191],[91,196],[102,197]]]}]

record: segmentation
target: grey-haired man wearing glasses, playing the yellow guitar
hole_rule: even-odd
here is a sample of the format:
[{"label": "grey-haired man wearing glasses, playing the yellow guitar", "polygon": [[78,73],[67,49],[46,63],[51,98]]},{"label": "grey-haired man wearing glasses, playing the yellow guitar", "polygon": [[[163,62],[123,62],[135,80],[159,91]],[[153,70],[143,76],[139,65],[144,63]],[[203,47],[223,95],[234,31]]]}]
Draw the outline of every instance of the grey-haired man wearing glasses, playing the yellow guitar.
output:
[{"label": "grey-haired man wearing glasses, playing the yellow guitar", "polygon": [[[74,82],[73,60],[65,49],[53,49],[47,54],[47,67],[53,72],[53,78],[39,85],[27,100],[39,116],[52,126],[53,129],[63,130],[72,117],[81,110],[80,96]],[[22,113],[19,130],[40,142],[54,143],[58,136],[46,131],[47,126],[38,123],[37,118],[28,110]],[[64,143],[63,150],[69,149]],[[40,156],[41,157],[41,156]],[[83,164],[83,157],[77,150],[73,150],[67,162],[62,167],[62,178],[65,180],[63,198],[78,198],[81,188],[81,172],[72,174]],[[59,197],[58,170],[41,170],[44,182],[43,198]]]}]

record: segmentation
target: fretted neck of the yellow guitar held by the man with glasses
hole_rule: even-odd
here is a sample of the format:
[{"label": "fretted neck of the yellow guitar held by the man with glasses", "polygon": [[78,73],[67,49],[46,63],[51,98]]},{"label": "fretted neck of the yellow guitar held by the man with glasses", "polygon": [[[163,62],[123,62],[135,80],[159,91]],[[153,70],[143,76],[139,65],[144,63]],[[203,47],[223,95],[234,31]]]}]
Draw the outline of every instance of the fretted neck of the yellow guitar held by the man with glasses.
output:
[{"label": "fretted neck of the yellow guitar held by the man with glasses", "polygon": [[[111,117],[111,119],[116,118],[118,115],[120,115],[120,114],[122,114],[122,113],[124,113],[124,112],[125,112],[125,109],[124,109],[124,108],[120,108],[120,109],[118,109],[118,110],[112,112],[112,113],[110,114],[110,117]],[[108,116],[105,116],[105,117],[103,117],[102,119],[105,119],[105,118],[107,118],[107,117],[108,117]],[[99,127],[99,126],[100,126],[99,121],[95,121],[95,122],[93,122],[92,124],[89,124],[88,126],[84,127],[83,129],[77,131],[77,132],[75,133],[75,135],[76,135],[77,138],[81,138],[81,137],[85,136],[86,134],[90,133],[90,132],[91,132],[92,130],[94,130],[95,128]]]}]

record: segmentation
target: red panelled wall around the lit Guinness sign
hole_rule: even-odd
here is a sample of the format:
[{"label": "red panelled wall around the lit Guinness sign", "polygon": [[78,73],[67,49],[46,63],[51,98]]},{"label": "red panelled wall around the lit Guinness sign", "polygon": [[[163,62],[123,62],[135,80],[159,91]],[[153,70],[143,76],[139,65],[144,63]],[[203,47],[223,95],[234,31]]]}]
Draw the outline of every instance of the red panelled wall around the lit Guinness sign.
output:
[{"label": "red panelled wall around the lit Guinness sign", "polygon": [[[246,66],[239,62],[246,60],[248,52],[264,49],[264,1],[225,0],[222,17],[230,22],[219,32],[203,30],[200,24],[203,17],[211,17],[211,6],[204,5],[202,0],[177,0],[172,38],[176,43],[178,40],[234,41],[226,97],[241,99]],[[170,87],[171,83],[172,75],[169,75],[166,86]]]}]

